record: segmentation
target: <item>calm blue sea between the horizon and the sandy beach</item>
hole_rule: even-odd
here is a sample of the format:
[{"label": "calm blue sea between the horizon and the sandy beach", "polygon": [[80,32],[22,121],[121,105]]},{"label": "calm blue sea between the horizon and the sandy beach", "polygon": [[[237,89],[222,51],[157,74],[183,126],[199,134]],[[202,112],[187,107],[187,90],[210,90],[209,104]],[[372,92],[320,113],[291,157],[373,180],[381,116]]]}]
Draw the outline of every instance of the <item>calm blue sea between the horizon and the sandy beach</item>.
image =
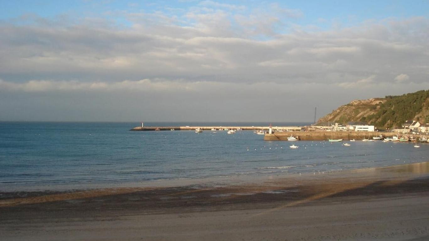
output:
[{"label": "calm blue sea between the horizon and the sandy beach", "polygon": [[[145,123],[267,126],[269,123]],[[303,126],[309,123],[272,123]],[[253,131],[130,131],[140,123],[0,122],[0,191],[339,172],[428,160],[428,144],[264,141]],[[344,141],[347,142],[347,141]],[[291,149],[290,145],[299,148]]]}]

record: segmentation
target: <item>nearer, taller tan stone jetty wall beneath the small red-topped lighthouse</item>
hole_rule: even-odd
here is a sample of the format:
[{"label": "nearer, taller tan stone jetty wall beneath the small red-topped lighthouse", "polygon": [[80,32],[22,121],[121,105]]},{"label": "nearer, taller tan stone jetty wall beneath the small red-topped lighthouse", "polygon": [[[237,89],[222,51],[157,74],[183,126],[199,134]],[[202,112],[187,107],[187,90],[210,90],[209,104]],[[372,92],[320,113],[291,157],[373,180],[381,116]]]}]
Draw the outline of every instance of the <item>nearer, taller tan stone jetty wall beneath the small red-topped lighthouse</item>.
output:
[{"label": "nearer, taller tan stone jetty wall beneath the small red-topped lighthouse", "polygon": [[265,141],[287,141],[289,136],[295,136],[299,140],[303,141],[321,141],[327,139],[344,139],[344,140],[362,140],[362,139],[372,139],[372,136],[380,136],[382,134],[384,137],[397,136],[398,133],[380,133],[380,132],[355,132],[355,131],[335,131],[335,132],[275,132],[273,134],[265,134]]}]

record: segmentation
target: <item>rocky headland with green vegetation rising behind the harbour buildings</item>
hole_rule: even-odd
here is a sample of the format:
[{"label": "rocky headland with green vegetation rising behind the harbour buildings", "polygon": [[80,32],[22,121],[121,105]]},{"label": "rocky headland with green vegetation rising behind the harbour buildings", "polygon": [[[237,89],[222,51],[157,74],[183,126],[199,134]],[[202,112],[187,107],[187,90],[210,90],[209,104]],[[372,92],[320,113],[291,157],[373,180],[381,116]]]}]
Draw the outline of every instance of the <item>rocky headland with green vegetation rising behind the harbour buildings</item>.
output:
[{"label": "rocky headland with green vegetation rising behind the harbour buildings", "polygon": [[402,96],[353,100],[320,118],[319,122],[346,124],[349,121],[365,121],[378,128],[392,128],[401,127],[407,120],[429,122],[429,90]]}]

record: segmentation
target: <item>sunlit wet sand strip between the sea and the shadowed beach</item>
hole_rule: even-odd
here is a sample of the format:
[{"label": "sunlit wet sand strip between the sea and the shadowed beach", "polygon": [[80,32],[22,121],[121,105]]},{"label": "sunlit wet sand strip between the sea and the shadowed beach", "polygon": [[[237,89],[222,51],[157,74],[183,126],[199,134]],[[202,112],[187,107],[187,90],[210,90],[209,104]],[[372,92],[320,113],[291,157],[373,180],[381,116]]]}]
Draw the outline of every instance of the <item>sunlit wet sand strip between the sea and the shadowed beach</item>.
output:
[{"label": "sunlit wet sand strip between the sea and the shadowed beach", "polygon": [[214,196],[224,196],[225,193],[228,192],[233,193],[231,195],[251,196],[253,194],[257,194],[260,190],[266,192],[275,192],[275,190],[279,188],[293,188],[298,190],[299,188],[306,189],[310,186],[321,187],[323,185],[331,185],[335,184],[335,182],[338,181],[343,184],[352,184],[352,186],[354,187],[358,182],[360,184],[371,184],[378,181],[398,181],[415,178],[427,178],[429,180],[429,161],[386,167],[350,169],[338,172],[306,172],[303,174],[293,173],[283,175],[260,175],[257,177],[230,177],[230,179],[228,180],[226,180],[225,178],[202,178],[197,180],[190,179],[181,180],[182,182],[168,180],[163,185],[159,185],[159,183],[158,185],[151,185],[154,184],[154,182],[146,182],[144,184],[140,183],[140,185],[136,183],[133,186],[123,185],[118,187],[103,187],[93,189],[42,191],[0,190],[0,208],[82,198],[97,198],[100,196],[120,196],[139,192],[174,193],[174,190],[181,190],[181,192],[196,190],[212,193],[211,195]]}]

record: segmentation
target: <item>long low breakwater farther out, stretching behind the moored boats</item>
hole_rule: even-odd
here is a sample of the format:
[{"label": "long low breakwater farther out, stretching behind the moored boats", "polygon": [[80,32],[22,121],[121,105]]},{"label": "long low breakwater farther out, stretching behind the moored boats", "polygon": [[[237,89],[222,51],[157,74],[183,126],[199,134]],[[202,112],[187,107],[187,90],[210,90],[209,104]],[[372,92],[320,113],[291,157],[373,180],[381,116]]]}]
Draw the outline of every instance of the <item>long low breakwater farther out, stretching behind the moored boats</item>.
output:
[{"label": "long low breakwater farther out, stretching behind the moored boats", "polygon": [[[288,130],[288,131],[300,131],[301,127],[272,127],[273,130]],[[242,126],[230,126],[230,127],[222,127],[222,126],[192,126],[192,127],[134,127],[131,129],[132,131],[153,131],[153,130],[195,130],[195,129],[201,129],[201,130],[236,130],[236,129],[242,129],[242,130],[265,130],[268,131],[269,127],[242,127]]]}]

